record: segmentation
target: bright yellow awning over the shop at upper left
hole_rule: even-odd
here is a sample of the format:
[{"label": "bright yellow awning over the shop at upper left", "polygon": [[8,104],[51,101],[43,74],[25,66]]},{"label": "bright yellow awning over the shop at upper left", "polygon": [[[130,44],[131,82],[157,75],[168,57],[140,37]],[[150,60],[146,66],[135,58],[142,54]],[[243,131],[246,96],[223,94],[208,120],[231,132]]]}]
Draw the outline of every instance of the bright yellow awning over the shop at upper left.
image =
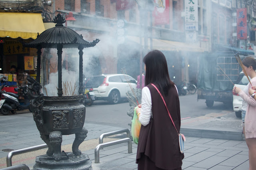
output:
[{"label": "bright yellow awning over the shop at upper left", "polygon": [[33,38],[44,32],[41,14],[0,12],[0,37]]}]

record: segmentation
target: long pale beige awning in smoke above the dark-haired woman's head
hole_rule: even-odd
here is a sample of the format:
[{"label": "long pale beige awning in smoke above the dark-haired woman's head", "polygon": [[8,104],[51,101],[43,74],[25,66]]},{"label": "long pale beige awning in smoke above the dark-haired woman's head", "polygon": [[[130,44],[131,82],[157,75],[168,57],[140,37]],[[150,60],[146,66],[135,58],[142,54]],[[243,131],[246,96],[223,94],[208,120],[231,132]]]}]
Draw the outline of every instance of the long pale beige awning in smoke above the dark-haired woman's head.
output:
[{"label": "long pale beige awning in smoke above the dark-haired woman's head", "polygon": [[[136,36],[126,36],[130,41],[140,43],[140,38]],[[153,49],[165,50],[165,51],[198,51],[204,52],[205,49],[200,48],[198,44],[174,42],[168,40],[160,40],[153,38]],[[144,45],[144,38],[142,38],[142,45]],[[150,48],[150,38],[148,38],[148,48]]]}]

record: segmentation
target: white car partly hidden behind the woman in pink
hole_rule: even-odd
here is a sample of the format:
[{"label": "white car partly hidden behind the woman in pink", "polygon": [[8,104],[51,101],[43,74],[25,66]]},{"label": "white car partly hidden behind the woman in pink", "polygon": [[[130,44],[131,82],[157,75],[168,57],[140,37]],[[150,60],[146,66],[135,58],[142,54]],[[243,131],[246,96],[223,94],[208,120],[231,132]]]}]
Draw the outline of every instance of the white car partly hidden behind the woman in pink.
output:
[{"label": "white car partly hidden behind the woman in pink", "polygon": [[[250,78],[250,77],[249,77]],[[244,75],[244,72],[240,72],[238,76],[237,83],[235,84],[236,87],[239,87],[240,89],[244,90],[246,85],[249,83],[247,77]],[[241,118],[242,117],[242,103],[243,99],[240,97],[238,94],[233,93],[233,109],[234,112],[236,113],[236,117]]]}]

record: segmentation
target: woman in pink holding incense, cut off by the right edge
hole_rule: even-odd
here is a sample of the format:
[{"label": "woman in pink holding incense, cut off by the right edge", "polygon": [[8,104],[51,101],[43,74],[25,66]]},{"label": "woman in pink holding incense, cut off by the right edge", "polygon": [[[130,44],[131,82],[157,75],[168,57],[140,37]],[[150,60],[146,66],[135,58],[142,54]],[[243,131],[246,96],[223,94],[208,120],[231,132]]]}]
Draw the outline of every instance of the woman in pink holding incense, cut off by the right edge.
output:
[{"label": "woman in pink holding incense, cut off by the right edge", "polygon": [[[244,67],[244,74],[251,78],[251,80],[249,80],[250,83],[248,89],[252,89],[252,87],[256,86],[255,59],[253,57],[246,57],[242,61],[242,67]],[[249,148],[249,170],[256,170],[256,101],[250,95],[246,95],[246,93],[238,87],[234,87],[233,91],[248,103],[244,121],[244,130],[246,144]]]}]

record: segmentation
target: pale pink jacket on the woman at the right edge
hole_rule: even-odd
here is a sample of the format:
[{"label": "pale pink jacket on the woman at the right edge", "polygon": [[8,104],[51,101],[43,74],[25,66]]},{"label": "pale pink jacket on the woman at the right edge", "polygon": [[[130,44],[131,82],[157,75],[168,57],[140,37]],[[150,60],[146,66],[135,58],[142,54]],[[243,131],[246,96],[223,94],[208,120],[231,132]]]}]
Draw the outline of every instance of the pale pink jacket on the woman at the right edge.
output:
[{"label": "pale pink jacket on the woman at the right edge", "polygon": [[[256,77],[252,78],[250,81],[252,86],[256,86]],[[251,89],[252,86],[249,83],[249,89]],[[248,103],[244,121],[245,137],[256,138],[256,101],[252,97],[246,95],[242,90],[238,95]]]}]

